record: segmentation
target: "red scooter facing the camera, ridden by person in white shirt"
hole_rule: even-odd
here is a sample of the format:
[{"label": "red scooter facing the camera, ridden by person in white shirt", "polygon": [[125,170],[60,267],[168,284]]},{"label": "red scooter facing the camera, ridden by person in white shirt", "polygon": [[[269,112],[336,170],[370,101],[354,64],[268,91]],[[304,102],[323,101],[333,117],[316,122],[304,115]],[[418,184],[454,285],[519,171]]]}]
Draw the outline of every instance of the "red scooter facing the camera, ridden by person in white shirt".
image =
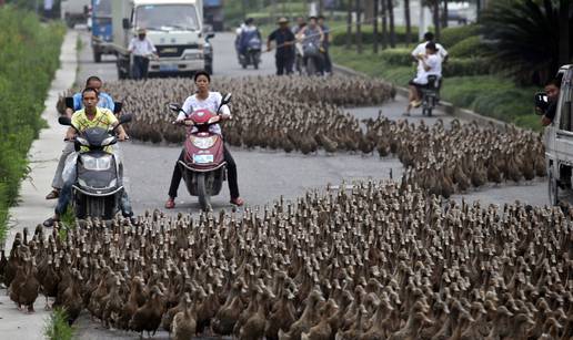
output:
[{"label": "red scooter facing the camera, ridden by person in white shirt", "polygon": [[[210,132],[209,126],[220,122],[221,107],[230,102],[231,93],[228,93],[223,95],[217,112],[193,110],[182,123],[189,130],[183,145],[183,161],[179,161],[179,166],[189,194],[199,197],[199,205],[204,212],[211,209],[211,196],[219,195],[227,179],[223,140]],[[175,113],[183,111],[179,104],[168,106]]]}]

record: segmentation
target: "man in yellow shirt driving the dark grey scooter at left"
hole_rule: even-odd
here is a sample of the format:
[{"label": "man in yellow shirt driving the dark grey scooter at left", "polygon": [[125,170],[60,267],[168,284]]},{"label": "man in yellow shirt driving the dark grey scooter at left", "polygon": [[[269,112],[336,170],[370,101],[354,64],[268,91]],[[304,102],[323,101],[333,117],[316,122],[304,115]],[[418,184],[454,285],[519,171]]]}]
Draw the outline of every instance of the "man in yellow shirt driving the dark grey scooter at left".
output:
[{"label": "man in yellow shirt driving the dark grey scooter at left", "polygon": [[[79,132],[82,132],[90,127],[103,127],[108,128],[110,126],[115,127],[119,124],[118,119],[108,109],[98,107],[99,96],[98,91],[92,87],[86,87],[82,91],[82,97],[83,97],[83,106],[84,109],[76,111],[71,117],[71,123],[73,126],[79,128]],[[73,140],[76,137],[76,134],[78,132],[70,126],[68,128],[68,132],[66,133],[67,140]],[[118,127],[118,141],[123,142],[128,138],[128,135],[125,134],[125,131],[122,126]],[[71,143],[70,143],[71,144]],[[107,152],[112,152],[111,147],[108,147],[105,150]],[[80,148],[80,152],[82,150]],[[73,167],[76,166],[74,162],[68,162],[66,166],[71,166],[72,168],[67,168],[67,172],[70,174],[76,174],[76,171]],[[58,205],[54,209],[53,217],[48,218],[43,221],[44,227],[52,227],[53,224],[58,220],[60,220],[60,217],[66,213],[68,209],[68,204],[71,199],[72,194],[72,185],[76,182],[76,176],[69,176],[68,178],[64,178],[64,183],[62,186],[62,189],[60,192],[60,196],[58,197]],[[121,199],[121,209],[124,217],[132,217],[133,212],[131,210],[131,206],[129,204],[129,198],[125,195],[122,196]]]}]

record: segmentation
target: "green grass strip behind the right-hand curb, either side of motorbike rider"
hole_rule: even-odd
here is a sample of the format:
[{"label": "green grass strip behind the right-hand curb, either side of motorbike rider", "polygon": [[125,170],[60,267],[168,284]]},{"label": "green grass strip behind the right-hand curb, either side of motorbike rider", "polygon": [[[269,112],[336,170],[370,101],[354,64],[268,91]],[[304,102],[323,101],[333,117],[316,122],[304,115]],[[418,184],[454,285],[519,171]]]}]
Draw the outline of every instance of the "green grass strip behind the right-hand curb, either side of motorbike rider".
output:
[{"label": "green grass strip behind the right-hand curb, either side of motorbike rider", "polygon": [[[406,86],[415,74],[415,66],[391,64],[364,47],[358,54],[355,49],[331,47],[334,63],[351,68],[371,76],[381,78],[398,86]],[[502,75],[446,76],[442,99],[455,106],[470,109],[482,115],[513,123],[517,126],[541,131],[540,117],[534,114],[532,97],[536,87],[516,86]]]}]

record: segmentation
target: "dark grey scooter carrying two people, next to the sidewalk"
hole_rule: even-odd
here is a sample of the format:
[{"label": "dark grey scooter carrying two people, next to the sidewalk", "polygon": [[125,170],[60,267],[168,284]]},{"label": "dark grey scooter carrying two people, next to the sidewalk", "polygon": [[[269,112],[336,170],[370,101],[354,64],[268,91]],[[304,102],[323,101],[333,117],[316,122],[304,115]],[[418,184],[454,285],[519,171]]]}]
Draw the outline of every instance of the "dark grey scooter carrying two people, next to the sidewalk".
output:
[{"label": "dark grey scooter carrying two people, next to the sidewalk", "polygon": [[[131,122],[130,114],[123,114],[119,124]],[[71,119],[59,117],[61,125],[73,127]],[[73,142],[76,151],[81,146],[88,151],[78,153],[76,162],[76,182],[72,185],[72,206],[76,217],[83,219],[87,216],[111,219],[120,209],[123,195],[123,166],[115,154],[104,151],[105,147],[118,143],[115,127],[90,127],[79,132]]]}]

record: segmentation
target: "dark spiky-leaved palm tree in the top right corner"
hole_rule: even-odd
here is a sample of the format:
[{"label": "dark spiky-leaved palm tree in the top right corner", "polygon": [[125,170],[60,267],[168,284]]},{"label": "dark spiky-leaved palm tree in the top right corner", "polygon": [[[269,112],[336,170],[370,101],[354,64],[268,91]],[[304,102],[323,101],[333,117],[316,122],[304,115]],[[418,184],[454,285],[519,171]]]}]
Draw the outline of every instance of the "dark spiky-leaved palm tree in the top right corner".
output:
[{"label": "dark spiky-leaved palm tree in the top right corner", "polygon": [[493,58],[522,84],[544,84],[571,61],[570,0],[497,0],[483,12]]}]

